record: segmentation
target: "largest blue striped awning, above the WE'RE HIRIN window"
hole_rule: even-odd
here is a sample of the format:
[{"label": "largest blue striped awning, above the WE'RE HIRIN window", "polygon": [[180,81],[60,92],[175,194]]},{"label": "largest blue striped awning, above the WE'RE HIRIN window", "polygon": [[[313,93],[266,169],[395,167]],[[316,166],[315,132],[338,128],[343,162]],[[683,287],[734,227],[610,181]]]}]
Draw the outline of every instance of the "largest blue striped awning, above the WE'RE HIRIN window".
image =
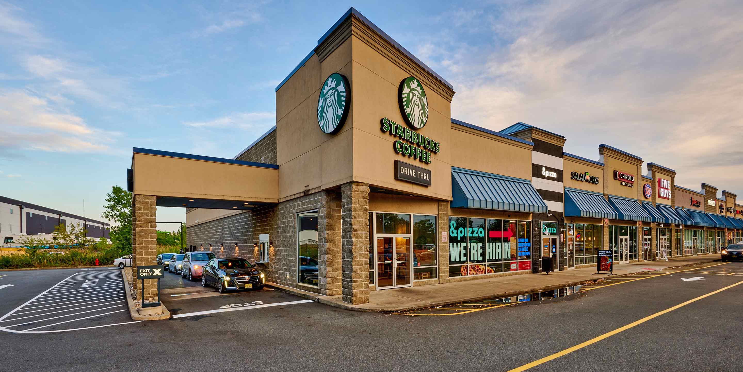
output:
[{"label": "largest blue striped awning, above the WE'RE HIRIN window", "polygon": [[547,213],[529,180],[452,166],[452,208]]}]

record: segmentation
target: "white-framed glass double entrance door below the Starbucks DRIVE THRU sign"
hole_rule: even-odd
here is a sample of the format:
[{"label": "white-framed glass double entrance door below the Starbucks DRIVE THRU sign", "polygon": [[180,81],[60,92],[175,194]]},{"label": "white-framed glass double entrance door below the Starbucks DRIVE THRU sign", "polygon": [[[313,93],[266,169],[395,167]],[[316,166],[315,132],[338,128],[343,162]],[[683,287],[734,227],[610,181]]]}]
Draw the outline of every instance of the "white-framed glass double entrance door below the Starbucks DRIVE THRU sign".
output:
[{"label": "white-framed glass double entrance door below the Starbucks DRIVE THRU sign", "polygon": [[410,235],[377,234],[377,289],[409,287],[412,265]]}]

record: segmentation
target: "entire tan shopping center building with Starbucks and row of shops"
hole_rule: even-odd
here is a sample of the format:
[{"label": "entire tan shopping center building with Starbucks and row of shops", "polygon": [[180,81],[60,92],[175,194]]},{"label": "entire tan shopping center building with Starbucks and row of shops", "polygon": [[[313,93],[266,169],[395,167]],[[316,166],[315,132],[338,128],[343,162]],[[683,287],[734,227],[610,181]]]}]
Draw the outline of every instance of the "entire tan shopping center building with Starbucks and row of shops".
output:
[{"label": "entire tan shopping center building with Starbucks and row of shops", "polygon": [[454,94],[351,8],[276,88],[276,126],[233,159],[134,149],[135,265],[155,261],[156,206],[186,208],[192,249],[351,304],[538,273],[542,256],[571,270],[599,249],[623,263],[742,240],[732,192],[678,186],[675,170],[609,145],[568,154],[569,139],[533,125],[452,119]]}]

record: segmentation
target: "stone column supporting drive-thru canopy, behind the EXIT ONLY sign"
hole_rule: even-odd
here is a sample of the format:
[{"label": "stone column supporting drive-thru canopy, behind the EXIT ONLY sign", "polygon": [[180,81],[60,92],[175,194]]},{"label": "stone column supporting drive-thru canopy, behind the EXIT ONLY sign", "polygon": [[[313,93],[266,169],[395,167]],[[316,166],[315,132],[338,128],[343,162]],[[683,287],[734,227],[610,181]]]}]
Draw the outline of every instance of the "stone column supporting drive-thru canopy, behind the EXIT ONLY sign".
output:
[{"label": "stone column supporting drive-thru canopy, behind the EXIT ONLY sign", "polygon": [[[157,206],[153,195],[134,195],[134,212],[132,213],[132,270],[134,272],[134,288],[137,296],[142,289],[139,287],[141,281],[137,280],[137,267],[155,265],[157,255],[158,233],[157,229]],[[158,296],[158,280],[147,279],[144,281],[144,299]]]}]

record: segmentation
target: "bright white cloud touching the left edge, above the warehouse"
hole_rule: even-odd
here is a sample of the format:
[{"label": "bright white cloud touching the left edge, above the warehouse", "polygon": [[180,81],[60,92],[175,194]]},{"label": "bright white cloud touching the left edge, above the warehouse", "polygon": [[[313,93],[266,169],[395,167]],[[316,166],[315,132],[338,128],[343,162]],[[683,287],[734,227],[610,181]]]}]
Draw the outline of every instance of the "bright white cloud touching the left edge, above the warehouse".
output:
[{"label": "bright white cloud touching the left edge, above the warehouse", "polygon": [[[51,152],[107,152],[116,133],[102,131],[27,91],[0,91],[0,154],[23,149]],[[8,176],[10,177],[10,175]]]}]

